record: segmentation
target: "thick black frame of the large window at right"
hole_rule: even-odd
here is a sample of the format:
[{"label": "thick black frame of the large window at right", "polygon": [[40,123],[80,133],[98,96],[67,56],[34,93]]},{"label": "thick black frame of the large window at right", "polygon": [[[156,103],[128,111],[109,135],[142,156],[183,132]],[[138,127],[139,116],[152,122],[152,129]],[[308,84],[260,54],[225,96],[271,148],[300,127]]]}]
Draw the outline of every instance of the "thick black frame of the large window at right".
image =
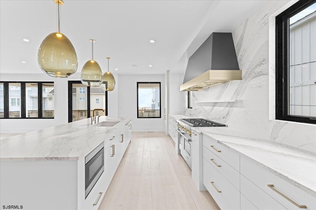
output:
[{"label": "thick black frame of the large window at right", "polygon": [[315,117],[289,115],[289,18],[314,4],[316,0],[300,0],[276,16],[276,120],[316,124]]}]

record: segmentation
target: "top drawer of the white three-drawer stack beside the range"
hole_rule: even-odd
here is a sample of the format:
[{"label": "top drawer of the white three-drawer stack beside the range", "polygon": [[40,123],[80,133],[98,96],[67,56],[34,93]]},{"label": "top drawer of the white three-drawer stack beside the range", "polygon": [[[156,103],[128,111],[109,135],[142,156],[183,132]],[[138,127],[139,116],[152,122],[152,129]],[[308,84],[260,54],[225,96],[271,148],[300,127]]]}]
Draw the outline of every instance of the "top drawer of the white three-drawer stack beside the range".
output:
[{"label": "top drawer of the white three-drawer stack beside the range", "polygon": [[239,172],[239,155],[232,150],[224,147],[223,145],[219,144],[217,140],[203,135],[203,146],[208,150],[212,151],[230,166],[232,166],[237,172]]}]

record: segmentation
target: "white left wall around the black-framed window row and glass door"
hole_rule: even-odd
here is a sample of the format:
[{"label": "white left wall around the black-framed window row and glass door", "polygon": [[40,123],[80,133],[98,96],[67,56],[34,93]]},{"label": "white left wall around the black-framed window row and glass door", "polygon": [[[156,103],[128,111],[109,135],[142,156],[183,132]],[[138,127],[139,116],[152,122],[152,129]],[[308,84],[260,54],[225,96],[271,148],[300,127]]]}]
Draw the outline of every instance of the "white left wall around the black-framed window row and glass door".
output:
[{"label": "white left wall around the black-framed window row and glass door", "polygon": [[[40,70],[39,70],[40,71]],[[118,75],[114,74],[115,78]],[[0,119],[0,133],[25,133],[68,123],[68,81],[80,81],[80,74],[70,78],[54,78],[39,74],[0,74],[0,81],[54,82],[55,112],[54,119]],[[109,116],[118,115],[118,81],[116,90],[108,93]]]}]

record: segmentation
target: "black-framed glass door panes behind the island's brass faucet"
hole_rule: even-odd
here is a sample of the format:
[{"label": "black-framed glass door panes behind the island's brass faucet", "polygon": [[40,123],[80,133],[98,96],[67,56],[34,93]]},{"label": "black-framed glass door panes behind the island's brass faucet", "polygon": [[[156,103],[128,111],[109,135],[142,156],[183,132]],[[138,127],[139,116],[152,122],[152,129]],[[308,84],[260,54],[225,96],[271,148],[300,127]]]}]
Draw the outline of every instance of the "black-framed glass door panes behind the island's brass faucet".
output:
[{"label": "black-framed glass door panes behind the island's brass faucet", "polygon": [[[95,109],[104,110],[99,113],[107,116],[107,95],[108,92],[100,87],[86,87],[82,85],[81,81],[69,81],[68,122],[90,118]],[[99,103],[97,103],[97,99]]]}]

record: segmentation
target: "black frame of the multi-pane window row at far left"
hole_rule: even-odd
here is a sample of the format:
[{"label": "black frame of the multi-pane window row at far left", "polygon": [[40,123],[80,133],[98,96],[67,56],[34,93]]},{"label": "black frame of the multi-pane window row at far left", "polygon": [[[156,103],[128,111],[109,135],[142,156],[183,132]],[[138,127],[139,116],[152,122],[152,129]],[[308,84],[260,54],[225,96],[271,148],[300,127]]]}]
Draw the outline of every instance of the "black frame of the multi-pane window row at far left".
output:
[{"label": "black frame of the multi-pane window row at far left", "polygon": [[[53,118],[43,118],[43,106],[42,106],[42,101],[43,101],[43,92],[42,92],[42,88],[43,88],[43,84],[47,84],[47,83],[52,83],[54,84],[54,82],[35,82],[35,81],[0,81],[0,83],[3,83],[3,102],[4,102],[4,107],[3,107],[3,112],[4,112],[4,117],[0,118],[0,119],[54,119]],[[20,83],[21,84],[21,117],[20,118],[9,118],[9,83]],[[38,117],[37,118],[27,118],[26,117],[26,84],[27,83],[37,83],[38,84]],[[54,109],[55,112],[55,109]],[[55,113],[54,113],[55,116]]]}]

